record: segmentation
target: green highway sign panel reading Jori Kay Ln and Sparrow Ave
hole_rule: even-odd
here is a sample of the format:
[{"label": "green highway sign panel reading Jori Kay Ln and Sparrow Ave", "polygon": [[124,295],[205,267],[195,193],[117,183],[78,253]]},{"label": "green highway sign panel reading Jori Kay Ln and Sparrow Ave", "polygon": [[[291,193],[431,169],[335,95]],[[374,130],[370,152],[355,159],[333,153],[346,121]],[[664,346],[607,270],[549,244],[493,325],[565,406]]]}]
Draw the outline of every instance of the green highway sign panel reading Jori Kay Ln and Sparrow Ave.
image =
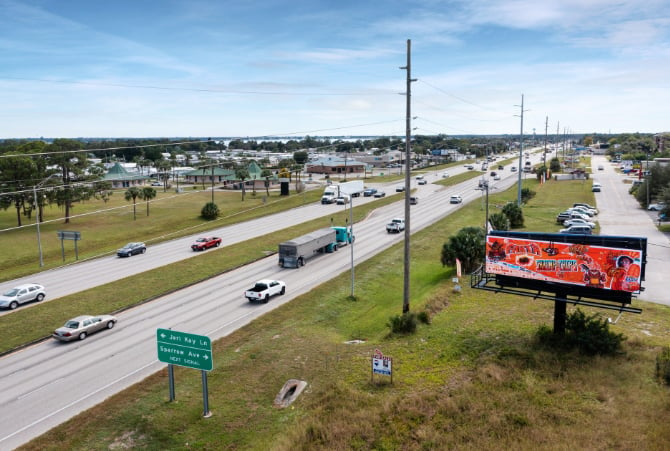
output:
[{"label": "green highway sign panel reading Jori Kay Ln and Sparrow Ave", "polygon": [[209,337],[157,329],[156,342],[159,361],[196,370],[212,370],[212,341]]}]

